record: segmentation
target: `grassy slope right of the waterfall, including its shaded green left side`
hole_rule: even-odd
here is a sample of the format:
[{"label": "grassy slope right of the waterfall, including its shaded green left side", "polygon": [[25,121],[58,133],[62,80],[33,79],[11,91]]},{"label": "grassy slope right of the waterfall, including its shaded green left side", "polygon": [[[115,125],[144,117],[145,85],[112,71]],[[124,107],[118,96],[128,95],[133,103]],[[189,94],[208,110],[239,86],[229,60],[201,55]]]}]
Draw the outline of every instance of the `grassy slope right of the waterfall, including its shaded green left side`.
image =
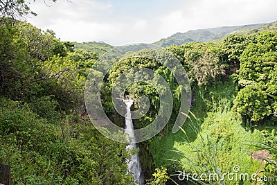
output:
[{"label": "grassy slope right of the waterfall, including its shaded green left side", "polygon": [[[168,132],[162,138],[155,138],[150,143],[154,164],[166,166],[171,175],[180,169],[187,173],[202,174],[208,170],[216,173],[211,162],[213,159],[209,159],[213,157],[213,143],[217,168],[221,173],[232,173],[234,166],[240,166],[241,173],[256,173],[260,168],[260,161],[253,161],[249,156],[253,147],[247,141],[262,141],[262,136],[258,130],[251,132],[242,127],[240,118],[230,111],[236,88],[233,80],[229,80],[209,89],[210,93],[206,96],[211,99],[205,98],[191,110],[195,112],[197,119],[190,116],[193,121],[186,121],[183,127],[185,133],[180,130],[176,134]],[[203,104],[217,108],[209,109],[208,112],[204,109],[199,111]],[[191,161],[188,161],[187,157]],[[170,159],[176,161],[172,162]],[[227,180],[225,182],[235,184]]]}]

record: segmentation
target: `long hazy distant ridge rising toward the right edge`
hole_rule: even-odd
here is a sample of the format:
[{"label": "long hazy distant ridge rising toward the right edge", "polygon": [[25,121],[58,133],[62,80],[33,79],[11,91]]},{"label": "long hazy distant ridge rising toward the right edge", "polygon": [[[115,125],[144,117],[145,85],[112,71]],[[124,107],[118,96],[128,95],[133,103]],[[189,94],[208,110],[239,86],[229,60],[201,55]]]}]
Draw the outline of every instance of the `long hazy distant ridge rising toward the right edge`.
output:
[{"label": "long hazy distant ridge rising toward the right edge", "polygon": [[263,30],[277,30],[277,22],[275,21],[269,24],[222,26],[217,28],[189,30],[186,33],[175,33],[166,39],[161,39],[158,42],[154,42],[154,44],[166,47],[172,44],[181,45],[187,42],[212,42],[217,39],[222,39],[231,33],[251,34]]}]

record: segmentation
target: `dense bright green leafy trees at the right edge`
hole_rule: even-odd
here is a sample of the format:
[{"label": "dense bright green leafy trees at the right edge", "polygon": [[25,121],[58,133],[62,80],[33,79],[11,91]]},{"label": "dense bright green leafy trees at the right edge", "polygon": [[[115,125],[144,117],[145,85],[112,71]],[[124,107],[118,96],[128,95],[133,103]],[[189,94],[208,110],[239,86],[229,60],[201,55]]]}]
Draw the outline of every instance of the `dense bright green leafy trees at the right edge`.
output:
[{"label": "dense bright green leafy trees at the right edge", "polygon": [[233,109],[247,121],[264,121],[276,116],[276,66],[277,34],[258,33],[251,37],[240,56],[238,83],[241,87],[234,100]]}]

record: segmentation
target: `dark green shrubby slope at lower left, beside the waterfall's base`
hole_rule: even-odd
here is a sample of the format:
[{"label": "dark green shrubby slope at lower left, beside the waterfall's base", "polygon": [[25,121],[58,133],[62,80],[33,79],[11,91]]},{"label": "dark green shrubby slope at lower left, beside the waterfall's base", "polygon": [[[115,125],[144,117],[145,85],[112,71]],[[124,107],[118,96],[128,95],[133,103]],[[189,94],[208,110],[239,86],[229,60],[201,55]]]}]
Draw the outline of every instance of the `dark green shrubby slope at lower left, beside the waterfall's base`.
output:
[{"label": "dark green shrubby slope at lower left, beside the waterfall's base", "polygon": [[1,162],[12,166],[12,184],[132,184],[125,144],[78,116],[55,123],[1,98],[0,121]]}]

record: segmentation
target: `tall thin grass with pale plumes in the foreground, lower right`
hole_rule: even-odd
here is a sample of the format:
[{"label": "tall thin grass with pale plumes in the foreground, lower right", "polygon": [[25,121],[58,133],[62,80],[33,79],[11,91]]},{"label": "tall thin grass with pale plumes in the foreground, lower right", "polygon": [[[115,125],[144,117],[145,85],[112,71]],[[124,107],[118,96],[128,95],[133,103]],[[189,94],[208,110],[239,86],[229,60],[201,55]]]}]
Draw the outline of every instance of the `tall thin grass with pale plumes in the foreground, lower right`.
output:
[{"label": "tall thin grass with pale plumes in the foreground, lower right", "polygon": [[[184,113],[183,113],[184,114]],[[191,116],[195,118],[197,121],[196,116],[190,112]],[[195,133],[199,133],[199,122],[194,124],[190,116],[188,114],[184,114],[190,120],[190,127],[195,131]],[[176,160],[176,159],[169,159],[170,161],[177,161],[179,163],[184,164],[186,166],[186,171],[178,171],[177,173],[171,175],[172,177],[178,176],[179,180],[185,180],[187,182],[192,182],[193,184],[218,184],[224,185],[224,179],[222,178],[222,173],[220,168],[217,166],[217,159],[215,155],[215,147],[214,144],[208,138],[208,134],[206,136],[202,136],[199,134],[200,145],[194,146],[189,142],[189,138],[186,134],[186,131],[180,127],[181,131],[184,132],[186,135],[187,140],[184,142],[193,152],[195,152],[196,157],[191,157],[189,155],[184,154],[184,152],[180,152],[178,150],[172,150],[180,155],[184,160]],[[194,177],[193,174],[204,175],[202,177]],[[205,176],[206,175],[206,176]],[[208,178],[212,177],[213,178]],[[197,180],[196,180],[197,179]],[[172,179],[172,182],[175,182]],[[175,182],[177,184],[177,182]]]}]

